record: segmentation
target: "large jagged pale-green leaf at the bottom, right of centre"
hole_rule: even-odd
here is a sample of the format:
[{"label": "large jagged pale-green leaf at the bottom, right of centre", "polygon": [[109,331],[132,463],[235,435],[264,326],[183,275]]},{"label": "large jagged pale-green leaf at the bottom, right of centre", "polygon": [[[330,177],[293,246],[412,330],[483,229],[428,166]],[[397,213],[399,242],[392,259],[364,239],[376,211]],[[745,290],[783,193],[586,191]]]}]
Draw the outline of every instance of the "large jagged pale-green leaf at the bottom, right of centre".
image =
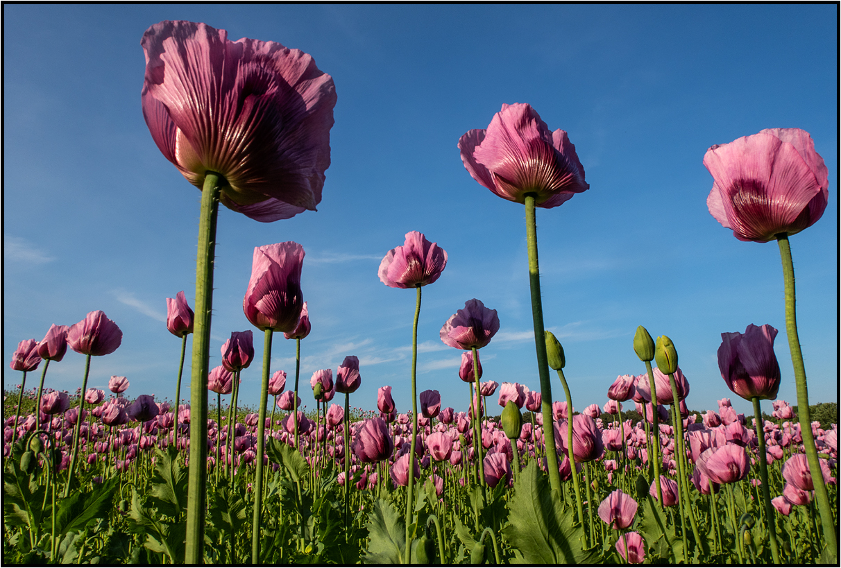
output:
[{"label": "large jagged pale-green leaf at the bottom, right of centre", "polygon": [[515,550],[514,561],[526,564],[582,564],[599,560],[585,549],[584,529],[572,508],[562,507],[549,488],[547,476],[532,461],[514,484],[508,523],[502,534]]}]

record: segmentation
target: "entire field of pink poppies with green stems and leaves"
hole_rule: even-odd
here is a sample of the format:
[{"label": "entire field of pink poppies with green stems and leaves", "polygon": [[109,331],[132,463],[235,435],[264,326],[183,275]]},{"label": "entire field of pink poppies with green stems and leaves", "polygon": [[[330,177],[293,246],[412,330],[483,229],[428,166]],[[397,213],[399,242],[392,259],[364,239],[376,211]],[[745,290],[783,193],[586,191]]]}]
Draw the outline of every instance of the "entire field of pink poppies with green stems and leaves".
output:
[{"label": "entire field of pink poppies with green stems and leaves", "polygon": [[[529,289],[516,292],[530,299],[535,356],[521,365],[537,364],[540,391],[482,381],[500,318],[479,298],[452,306],[438,337],[419,337],[423,293],[449,258],[409,230],[377,273],[415,296],[411,406],[399,408],[390,385],[360,399],[366,369],[352,353],[335,373],[301,372],[312,327],[295,242],[254,249],[242,309],[257,336],[230,332],[221,365],[209,364],[219,206],[261,223],[315,209],[331,163],[332,77],[303,51],[230,41],[207,24],[164,21],[141,45],[145,124],[201,191],[195,302],[167,298],[181,346],[174,397],[125,397],[126,376],[111,376],[109,392],[88,386],[124,339],[102,311],[21,340],[10,362],[21,380],[3,393],[4,564],[837,563],[837,405],[810,407],[789,243],[828,204],[828,169],[806,131],[764,129],[704,156],[712,217],[736,239],[779,248],[785,292],[768,302],[785,330],[722,332],[722,398],[699,412],[668,330],[636,329],[637,374],[606,379],[606,402],[568,383],[543,321],[537,212],[590,185],[567,132],[529,104],[503,104],[458,150],[474,181],[512,215],[525,211]],[[780,331],[796,401],[777,396],[789,365],[775,355]],[[272,367],[279,334],[296,345],[294,369]],[[443,396],[417,376],[430,339],[461,355]],[[50,387],[68,348],[86,361],[76,392]],[[256,408],[241,402],[244,374],[261,377]]]}]

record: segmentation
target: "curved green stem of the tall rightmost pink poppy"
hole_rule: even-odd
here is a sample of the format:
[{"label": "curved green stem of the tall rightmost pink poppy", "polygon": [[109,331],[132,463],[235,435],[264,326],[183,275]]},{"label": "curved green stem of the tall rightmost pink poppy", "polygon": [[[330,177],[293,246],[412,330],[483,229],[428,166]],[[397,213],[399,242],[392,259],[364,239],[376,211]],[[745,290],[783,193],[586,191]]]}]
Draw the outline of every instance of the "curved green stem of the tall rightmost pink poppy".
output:
[{"label": "curved green stem of the tall rightmost pink poppy", "polygon": [[776,235],[780,245],[780,258],[783,263],[783,279],[785,280],[785,333],[789,339],[791,363],[794,365],[794,379],[797,388],[797,414],[800,418],[800,431],[803,437],[803,450],[809,463],[809,473],[815,486],[815,501],[817,511],[821,514],[824,545],[828,549],[828,562],[835,564],[838,558],[838,540],[835,535],[833,510],[829,506],[827,486],[823,482],[821,465],[817,457],[815,439],[812,436],[812,416],[809,411],[809,390],[806,382],[806,366],[803,365],[803,354],[800,350],[800,338],[797,336],[796,298],[794,289],[794,264],[791,261],[791,247],[788,234]]}]

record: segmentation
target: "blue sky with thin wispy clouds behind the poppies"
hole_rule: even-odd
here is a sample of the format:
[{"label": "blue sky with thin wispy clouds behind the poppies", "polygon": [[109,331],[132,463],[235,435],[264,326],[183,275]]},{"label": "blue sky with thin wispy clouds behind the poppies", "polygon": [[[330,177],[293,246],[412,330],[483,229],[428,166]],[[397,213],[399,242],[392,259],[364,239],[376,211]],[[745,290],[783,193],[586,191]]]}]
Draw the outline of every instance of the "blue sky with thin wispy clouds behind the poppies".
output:
[{"label": "blue sky with thin wispy clouds behind the poppies", "polygon": [[[332,164],[317,213],[260,224],[220,208],[211,366],[242,313],[259,245],[304,246],[312,334],[301,380],[361,362],[351,403],[394,387],[410,408],[415,294],[385,287],[383,255],[410,230],[447,250],[423,290],[418,392],[467,407],[460,352],[442,324],[476,297],[499,312],[480,351],[484,380],[539,390],[525,213],[468,175],[456,144],[502,103],[530,103],[564,129],[590,190],[537,212],[544,318],[563,343],[574,406],[606,401],[639,374],[637,325],[667,334],[690,381],[690,408],[730,397],[717,368],[722,332],[780,329],[779,397],[796,402],[775,243],[743,243],[706,209],[707,148],[765,128],[805,129],[829,169],[823,218],[791,238],[810,401],[838,400],[838,29],[836,5],[717,6],[24,6],[3,7],[3,379],[21,339],[42,339],[101,309],[124,332],[89,384],[128,376],[130,397],[175,396],[180,341],[166,297],[193,305],[200,192],[152,142],[140,113],[140,37],[164,19],[274,40],[315,57],[336,83]],[[255,329],[257,332],[257,330]],[[256,405],[262,340],[243,372]],[[192,338],[192,336],[191,336]],[[188,343],[192,344],[192,339]],[[272,371],[294,375],[281,337]],[[50,365],[46,386],[81,386],[84,357]],[[187,363],[188,365],[188,363]],[[31,373],[34,385],[40,370]],[[291,382],[291,381],[290,381]],[[556,400],[563,397],[553,380]],[[189,397],[189,369],[182,396]],[[309,392],[304,403],[313,408]],[[765,405],[770,412],[770,403]]]}]

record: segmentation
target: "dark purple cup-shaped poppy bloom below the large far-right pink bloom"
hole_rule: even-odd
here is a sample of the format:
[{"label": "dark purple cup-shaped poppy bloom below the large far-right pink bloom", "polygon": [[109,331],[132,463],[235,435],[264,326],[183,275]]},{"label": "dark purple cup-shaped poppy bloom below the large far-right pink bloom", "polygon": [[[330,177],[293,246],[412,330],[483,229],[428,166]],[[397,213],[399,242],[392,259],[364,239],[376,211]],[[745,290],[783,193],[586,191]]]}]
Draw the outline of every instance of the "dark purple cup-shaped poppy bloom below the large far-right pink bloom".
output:
[{"label": "dark purple cup-shaped poppy bloom below the large far-right pink bloom", "polygon": [[773,399],[780,389],[780,365],[774,354],[777,330],[767,323],[748,325],[744,334],[722,334],[718,369],[731,391],[746,400]]}]

